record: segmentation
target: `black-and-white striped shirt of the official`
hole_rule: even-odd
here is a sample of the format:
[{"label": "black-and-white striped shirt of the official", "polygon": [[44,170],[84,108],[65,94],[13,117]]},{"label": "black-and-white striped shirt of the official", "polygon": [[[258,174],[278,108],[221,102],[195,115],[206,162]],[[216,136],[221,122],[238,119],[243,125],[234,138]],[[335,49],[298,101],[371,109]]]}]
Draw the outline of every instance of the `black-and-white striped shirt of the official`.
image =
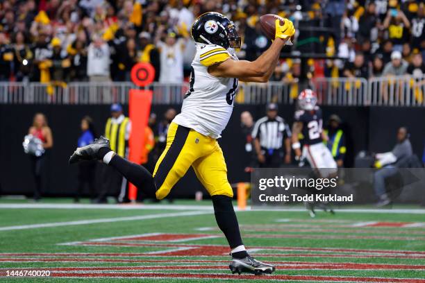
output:
[{"label": "black-and-white striped shirt of the official", "polygon": [[269,119],[263,117],[256,121],[252,130],[253,139],[260,139],[260,145],[265,149],[279,149],[283,146],[283,141],[291,137],[292,133],[285,120],[282,117]]}]

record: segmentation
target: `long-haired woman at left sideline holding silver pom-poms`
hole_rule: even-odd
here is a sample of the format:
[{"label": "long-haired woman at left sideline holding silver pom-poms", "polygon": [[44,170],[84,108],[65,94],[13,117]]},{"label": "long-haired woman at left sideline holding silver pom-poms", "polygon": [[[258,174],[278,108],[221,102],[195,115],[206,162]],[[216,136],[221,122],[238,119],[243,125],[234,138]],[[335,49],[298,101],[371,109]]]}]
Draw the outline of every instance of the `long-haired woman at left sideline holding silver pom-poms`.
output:
[{"label": "long-haired woman at left sideline holding silver pom-poms", "polygon": [[[47,119],[42,113],[37,113],[34,115],[33,126],[28,130],[28,135],[33,135],[42,141],[43,148],[49,149],[53,147],[53,135],[51,134],[51,129],[47,124]],[[35,180],[34,188],[34,200],[40,200],[42,196],[43,188],[43,175],[45,173],[45,162],[46,153],[41,156],[31,155],[31,170],[33,172]]]}]

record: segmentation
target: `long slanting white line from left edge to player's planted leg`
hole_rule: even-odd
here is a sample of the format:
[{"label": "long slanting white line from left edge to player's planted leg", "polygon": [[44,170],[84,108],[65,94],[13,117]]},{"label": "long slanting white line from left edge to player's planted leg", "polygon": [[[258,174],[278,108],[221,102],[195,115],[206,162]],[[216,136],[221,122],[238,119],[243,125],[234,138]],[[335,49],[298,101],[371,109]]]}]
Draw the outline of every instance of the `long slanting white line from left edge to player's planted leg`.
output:
[{"label": "long slanting white line from left edge to player's planted leg", "polygon": [[178,217],[178,216],[194,216],[194,215],[201,215],[201,214],[210,214],[210,212],[205,212],[205,211],[203,211],[203,212],[199,212],[199,211],[174,212],[174,213],[163,213],[163,214],[149,214],[149,215],[141,215],[141,216],[99,218],[99,219],[80,220],[80,221],[40,223],[40,224],[30,224],[30,225],[16,225],[16,226],[0,227],[0,231],[25,230],[25,229],[36,229],[36,228],[51,228],[51,227],[59,227],[59,226],[71,226],[71,225],[88,225],[88,224],[95,224],[95,223],[111,223],[111,222],[135,221],[135,220],[146,220],[146,219]]}]

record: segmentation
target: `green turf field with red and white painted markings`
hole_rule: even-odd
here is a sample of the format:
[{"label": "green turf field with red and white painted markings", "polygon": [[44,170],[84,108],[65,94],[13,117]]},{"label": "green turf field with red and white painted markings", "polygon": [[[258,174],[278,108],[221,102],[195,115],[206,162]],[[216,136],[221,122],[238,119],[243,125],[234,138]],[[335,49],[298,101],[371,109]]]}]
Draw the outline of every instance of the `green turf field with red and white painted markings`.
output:
[{"label": "green turf field with red and white painted markings", "polygon": [[238,212],[245,246],[277,268],[255,276],[228,270],[208,204],[0,199],[0,281],[425,282],[424,210]]}]

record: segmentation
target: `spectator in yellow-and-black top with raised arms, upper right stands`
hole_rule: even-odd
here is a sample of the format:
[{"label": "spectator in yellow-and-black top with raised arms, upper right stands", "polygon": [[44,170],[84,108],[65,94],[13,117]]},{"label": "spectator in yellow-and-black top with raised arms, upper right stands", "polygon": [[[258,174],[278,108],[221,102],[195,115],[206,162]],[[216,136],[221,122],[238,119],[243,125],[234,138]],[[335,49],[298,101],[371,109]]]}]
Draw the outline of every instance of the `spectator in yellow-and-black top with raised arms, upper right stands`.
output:
[{"label": "spectator in yellow-and-black top with raised arms, upper right stands", "polygon": [[391,8],[383,22],[388,31],[388,38],[394,44],[394,51],[401,51],[403,42],[408,41],[410,22],[403,11]]}]

